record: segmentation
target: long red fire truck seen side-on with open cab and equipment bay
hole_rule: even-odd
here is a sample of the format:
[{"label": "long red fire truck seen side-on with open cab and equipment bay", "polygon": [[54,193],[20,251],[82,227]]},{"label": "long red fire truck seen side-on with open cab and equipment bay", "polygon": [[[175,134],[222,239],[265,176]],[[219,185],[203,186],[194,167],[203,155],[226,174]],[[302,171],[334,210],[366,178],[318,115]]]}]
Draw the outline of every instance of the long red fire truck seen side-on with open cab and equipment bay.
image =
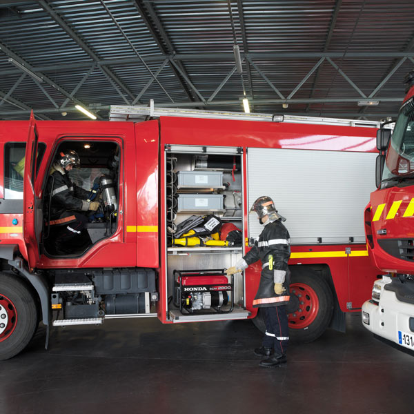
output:
[{"label": "long red fire truck seen side-on with open cab and equipment bay", "polygon": [[[122,317],[263,326],[252,306],[260,264],[224,272],[261,232],[248,210],[262,195],[288,219],[290,336],[344,331],[345,313],[359,310],[377,274],[360,214],[373,189],[377,128],[153,106],[113,106],[111,121],[1,121],[0,359],[19,353],[40,319],[47,335]],[[101,207],[86,224],[90,245],[63,254],[50,239],[45,188],[66,150],[81,160],[72,182],[100,183]],[[190,227],[182,236],[200,217],[232,224],[243,242],[219,231],[196,237]]]}]

